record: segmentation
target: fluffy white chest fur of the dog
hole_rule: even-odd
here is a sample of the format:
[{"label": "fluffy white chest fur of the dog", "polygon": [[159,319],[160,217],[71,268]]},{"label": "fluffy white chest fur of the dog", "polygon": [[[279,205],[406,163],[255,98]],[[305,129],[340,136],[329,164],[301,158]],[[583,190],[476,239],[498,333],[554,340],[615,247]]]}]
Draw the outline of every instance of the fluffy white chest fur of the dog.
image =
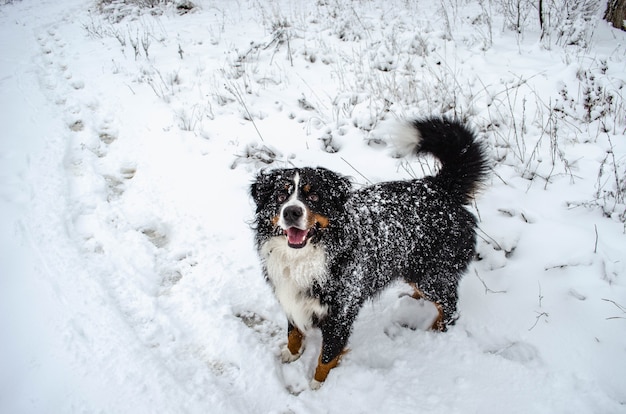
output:
[{"label": "fluffy white chest fur of the dog", "polygon": [[308,292],[314,282],[326,280],[326,250],[306,245],[289,247],[284,237],[273,237],[261,246],[261,256],[274,293],[289,320],[300,330],[311,328],[313,316],[322,318],[328,307]]}]

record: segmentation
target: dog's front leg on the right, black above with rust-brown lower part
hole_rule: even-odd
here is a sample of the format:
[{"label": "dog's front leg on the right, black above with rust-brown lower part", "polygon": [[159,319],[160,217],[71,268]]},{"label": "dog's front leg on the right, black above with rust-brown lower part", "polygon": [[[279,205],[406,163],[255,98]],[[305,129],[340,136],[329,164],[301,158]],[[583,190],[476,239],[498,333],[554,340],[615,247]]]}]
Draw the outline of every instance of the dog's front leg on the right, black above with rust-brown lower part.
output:
[{"label": "dog's front leg on the right, black above with rust-brown lower part", "polygon": [[322,329],[322,350],[311,380],[311,389],[319,389],[331,369],[339,365],[341,357],[347,352],[346,344],[352,328],[352,320],[338,322],[332,317],[324,321]]}]

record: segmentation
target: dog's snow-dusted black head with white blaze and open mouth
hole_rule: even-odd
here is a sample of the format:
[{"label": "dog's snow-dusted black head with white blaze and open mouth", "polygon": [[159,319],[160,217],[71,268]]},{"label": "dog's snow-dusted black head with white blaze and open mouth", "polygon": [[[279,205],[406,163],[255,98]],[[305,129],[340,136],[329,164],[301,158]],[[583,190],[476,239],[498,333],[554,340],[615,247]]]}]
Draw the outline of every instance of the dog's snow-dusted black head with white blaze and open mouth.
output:
[{"label": "dog's snow-dusted black head with white blaze and open mouth", "polygon": [[350,196],[350,182],[325,168],[262,171],[250,187],[257,225],[279,232],[289,247],[319,241]]}]

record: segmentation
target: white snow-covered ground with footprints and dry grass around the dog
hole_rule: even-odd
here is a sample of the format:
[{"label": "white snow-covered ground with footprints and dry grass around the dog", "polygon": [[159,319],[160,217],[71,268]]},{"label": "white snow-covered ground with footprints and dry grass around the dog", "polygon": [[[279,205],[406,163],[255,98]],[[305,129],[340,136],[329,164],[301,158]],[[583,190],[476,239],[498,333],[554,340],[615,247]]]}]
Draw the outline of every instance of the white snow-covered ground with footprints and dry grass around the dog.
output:
[{"label": "white snow-covered ground with footprints and dry grass around the dog", "polygon": [[[0,5],[0,412],[626,412],[626,33],[509,3]],[[311,391],[248,186],[420,176],[388,126],[442,113],[494,165],[461,319],[395,285]]]}]

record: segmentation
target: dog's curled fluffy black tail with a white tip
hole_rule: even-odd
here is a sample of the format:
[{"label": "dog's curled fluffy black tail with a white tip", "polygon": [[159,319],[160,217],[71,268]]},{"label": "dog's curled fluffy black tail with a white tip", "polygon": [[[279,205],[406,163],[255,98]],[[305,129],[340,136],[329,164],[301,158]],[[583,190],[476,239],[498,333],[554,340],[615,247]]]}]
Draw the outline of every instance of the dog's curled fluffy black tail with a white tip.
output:
[{"label": "dog's curled fluffy black tail with a white tip", "polygon": [[433,180],[463,203],[470,202],[489,170],[483,146],[455,120],[410,121],[399,128],[394,142],[400,155],[429,153],[439,159],[441,168]]}]

